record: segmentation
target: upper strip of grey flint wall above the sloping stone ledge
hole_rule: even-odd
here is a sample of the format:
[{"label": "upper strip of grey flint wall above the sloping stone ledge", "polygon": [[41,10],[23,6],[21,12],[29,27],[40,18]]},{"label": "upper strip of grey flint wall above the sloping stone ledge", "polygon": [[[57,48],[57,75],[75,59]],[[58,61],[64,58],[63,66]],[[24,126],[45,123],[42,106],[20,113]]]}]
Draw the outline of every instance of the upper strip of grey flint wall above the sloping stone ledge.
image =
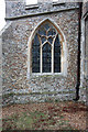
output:
[{"label": "upper strip of grey flint wall above the sloping stone ledge", "polygon": [[76,2],[37,2],[26,6],[25,0],[6,0],[6,19],[25,16],[46,12],[61,11],[65,9],[79,8]]}]

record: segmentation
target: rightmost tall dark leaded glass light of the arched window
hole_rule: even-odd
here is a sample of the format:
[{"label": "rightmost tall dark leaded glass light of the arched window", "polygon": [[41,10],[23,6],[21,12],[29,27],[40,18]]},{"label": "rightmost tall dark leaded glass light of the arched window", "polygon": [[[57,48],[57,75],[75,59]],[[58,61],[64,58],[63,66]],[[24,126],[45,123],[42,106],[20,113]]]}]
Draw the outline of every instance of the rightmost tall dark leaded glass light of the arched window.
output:
[{"label": "rightmost tall dark leaded glass light of the arched window", "polygon": [[58,35],[54,44],[54,73],[61,73],[61,44]]}]

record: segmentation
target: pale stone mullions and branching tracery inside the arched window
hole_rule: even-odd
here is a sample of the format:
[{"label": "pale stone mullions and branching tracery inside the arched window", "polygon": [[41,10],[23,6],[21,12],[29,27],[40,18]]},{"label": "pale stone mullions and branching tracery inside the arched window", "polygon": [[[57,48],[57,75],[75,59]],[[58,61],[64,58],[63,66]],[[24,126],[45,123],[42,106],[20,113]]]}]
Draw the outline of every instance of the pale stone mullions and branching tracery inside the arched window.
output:
[{"label": "pale stone mullions and branching tracery inside the arched window", "polygon": [[[44,45],[47,43],[50,46],[51,46],[51,72],[50,73],[44,73],[44,74],[54,74],[54,47],[55,47],[55,41],[56,41],[56,37],[58,36],[59,37],[59,44],[62,42],[62,38],[61,38],[61,35],[58,34],[57,30],[47,21],[44,22],[44,24],[47,24],[50,25],[48,29],[45,29],[44,25],[42,26],[43,31],[46,33],[46,34],[40,34],[38,33],[38,30],[41,32],[41,29],[38,28],[37,29],[37,32],[35,35],[37,35],[37,38],[38,38],[38,42],[40,42],[40,73],[43,74],[43,47]],[[47,35],[50,31],[54,30],[55,31],[55,34],[53,35]],[[35,36],[34,36],[35,37]],[[45,41],[43,42],[42,38],[45,38]],[[48,41],[48,38],[52,38],[52,43]],[[59,56],[62,57],[62,55]],[[61,65],[59,65],[61,67]],[[61,72],[59,72],[61,73]],[[33,73],[34,74],[34,73]],[[56,74],[56,73],[55,73]]]}]

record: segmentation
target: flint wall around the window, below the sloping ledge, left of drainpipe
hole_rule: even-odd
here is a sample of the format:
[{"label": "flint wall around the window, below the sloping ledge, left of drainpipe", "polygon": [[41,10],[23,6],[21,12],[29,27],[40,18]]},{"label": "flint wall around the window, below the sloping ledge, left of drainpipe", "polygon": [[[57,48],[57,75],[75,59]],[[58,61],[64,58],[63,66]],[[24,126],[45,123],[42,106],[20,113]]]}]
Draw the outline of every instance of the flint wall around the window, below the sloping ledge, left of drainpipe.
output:
[{"label": "flint wall around the window, below the sloping ledge, left of drainpipe", "polygon": [[[28,43],[34,28],[44,19],[59,25],[66,37],[67,76],[30,76],[28,78]],[[3,103],[72,100],[77,80],[78,9],[34,15],[11,21],[2,34]]]}]

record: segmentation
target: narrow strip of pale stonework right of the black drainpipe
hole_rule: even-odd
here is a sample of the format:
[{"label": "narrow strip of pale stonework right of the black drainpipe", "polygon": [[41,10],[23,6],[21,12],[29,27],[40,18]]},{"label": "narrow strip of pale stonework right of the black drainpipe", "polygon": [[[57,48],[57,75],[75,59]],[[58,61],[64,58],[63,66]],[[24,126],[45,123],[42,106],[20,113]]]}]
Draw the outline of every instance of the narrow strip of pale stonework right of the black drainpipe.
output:
[{"label": "narrow strip of pale stonework right of the black drainpipe", "polygon": [[80,100],[88,105],[88,2],[82,3]]}]

